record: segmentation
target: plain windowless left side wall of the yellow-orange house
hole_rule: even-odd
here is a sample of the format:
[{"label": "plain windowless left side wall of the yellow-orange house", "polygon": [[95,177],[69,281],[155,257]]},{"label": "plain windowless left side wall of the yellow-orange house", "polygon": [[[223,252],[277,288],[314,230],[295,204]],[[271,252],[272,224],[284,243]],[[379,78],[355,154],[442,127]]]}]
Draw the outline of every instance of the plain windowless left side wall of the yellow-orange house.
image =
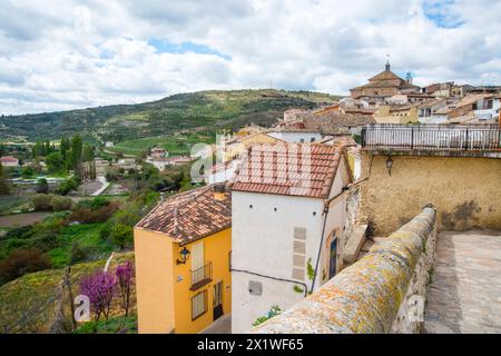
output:
[{"label": "plain windowless left side wall of the yellow-orange house", "polygon": [[134,249],[139,333],[170,333],[175,327],[173,241],[136,228]]}]

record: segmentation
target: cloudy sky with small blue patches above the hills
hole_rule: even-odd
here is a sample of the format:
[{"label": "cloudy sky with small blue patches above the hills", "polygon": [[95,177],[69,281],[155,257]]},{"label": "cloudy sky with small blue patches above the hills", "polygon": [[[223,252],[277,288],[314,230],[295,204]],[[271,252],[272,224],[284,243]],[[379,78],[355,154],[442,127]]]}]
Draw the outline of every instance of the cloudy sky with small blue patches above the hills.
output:
[{"label": "cloudy sky with small blue patches above the hills", "polygon": [[501,85],[500,0],[0,0],[0,113],[204,89]]}]

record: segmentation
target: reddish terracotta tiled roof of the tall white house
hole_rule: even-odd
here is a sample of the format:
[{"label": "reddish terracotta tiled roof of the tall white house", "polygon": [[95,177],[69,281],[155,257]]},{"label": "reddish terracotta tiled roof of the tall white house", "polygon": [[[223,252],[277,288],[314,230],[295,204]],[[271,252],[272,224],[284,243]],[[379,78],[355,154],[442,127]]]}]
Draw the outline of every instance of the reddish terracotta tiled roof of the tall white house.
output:
[{"label": "reddish terracotta tiled roof of the tall white house", "polygon": [[342,145],[256,144],[232,190],[327,198],[342,157]]}]

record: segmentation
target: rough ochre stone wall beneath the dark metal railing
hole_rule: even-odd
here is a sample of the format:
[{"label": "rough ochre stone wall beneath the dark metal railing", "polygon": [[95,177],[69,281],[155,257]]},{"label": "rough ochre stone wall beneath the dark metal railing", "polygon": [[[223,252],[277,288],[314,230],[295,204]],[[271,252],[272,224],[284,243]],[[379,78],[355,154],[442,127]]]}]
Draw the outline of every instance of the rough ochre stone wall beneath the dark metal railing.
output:
[{"label": "rough ochre stone wall beneath the dark metal railing", "polygon": [[363,151],[360,221],[387,236],[433,204],[439,229],[501,229],[501,159],[387,156]]}]

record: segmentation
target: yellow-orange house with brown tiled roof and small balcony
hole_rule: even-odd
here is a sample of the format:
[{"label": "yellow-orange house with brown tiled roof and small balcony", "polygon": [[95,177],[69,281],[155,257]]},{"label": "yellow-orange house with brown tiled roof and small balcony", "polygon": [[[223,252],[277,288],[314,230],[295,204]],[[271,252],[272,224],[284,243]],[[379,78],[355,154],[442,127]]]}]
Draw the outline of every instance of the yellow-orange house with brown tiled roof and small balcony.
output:
[{"label": "yellow-orange house with brown tiled roof and small balcony", "polygon": [[134,229],[139,333],[199,333],[232,308],[232,200],[224,185],[159,202]]}]

